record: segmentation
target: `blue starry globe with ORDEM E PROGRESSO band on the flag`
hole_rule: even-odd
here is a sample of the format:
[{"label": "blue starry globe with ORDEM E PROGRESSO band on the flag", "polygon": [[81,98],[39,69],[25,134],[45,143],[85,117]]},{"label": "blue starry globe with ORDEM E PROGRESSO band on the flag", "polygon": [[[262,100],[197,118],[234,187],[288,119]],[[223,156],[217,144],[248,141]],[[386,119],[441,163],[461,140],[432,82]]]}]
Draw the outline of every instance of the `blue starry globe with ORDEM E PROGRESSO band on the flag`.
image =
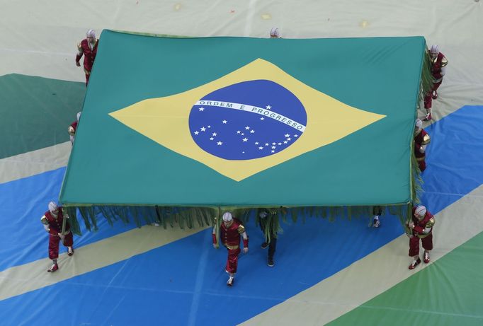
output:
[{"label": "blue starry globe with ORDEM E PROGRESSO band on the flag", "polygon": [[275,155],[295,143],[307,125],[300,100],[268,80],[244,81],[220,88],[191,108],[193,141],[226,160]]}]

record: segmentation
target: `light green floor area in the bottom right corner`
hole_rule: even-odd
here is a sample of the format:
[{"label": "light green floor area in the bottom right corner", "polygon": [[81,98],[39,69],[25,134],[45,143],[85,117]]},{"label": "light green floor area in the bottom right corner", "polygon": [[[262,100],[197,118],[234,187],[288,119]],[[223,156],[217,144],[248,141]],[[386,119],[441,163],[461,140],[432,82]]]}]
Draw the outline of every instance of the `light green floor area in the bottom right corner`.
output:
[{"label": "light green floor area in the bottom right corner", "polygon": [[483,325],[482,254],[483,232],[327,325]]}]

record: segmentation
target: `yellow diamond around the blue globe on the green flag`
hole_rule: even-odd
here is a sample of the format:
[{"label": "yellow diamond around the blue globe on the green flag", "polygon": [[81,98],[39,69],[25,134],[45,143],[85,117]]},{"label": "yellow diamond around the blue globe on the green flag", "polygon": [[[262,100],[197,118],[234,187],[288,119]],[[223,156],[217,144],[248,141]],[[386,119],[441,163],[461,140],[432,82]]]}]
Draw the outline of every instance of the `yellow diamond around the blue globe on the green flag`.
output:
[{"label": "yellow diamond around the blue globe on the green flag", "polygon": [[[237,93],[237,101],[227,98],[226,92],[218,95],[221,98],[216,97],[217,91],[255,81],[278,86],[294,95],[305,110],[306,122],[292,118],[292,107],[285,107],[284,112],[288,113],[283,115],[270,105],[261,107],[254,103],[254,96],[258,102],[260,98],[265,97],[266,103],[270,103],[271,96],[273,97],[270,92],[249,92],[246,88],[235,87],[234,91],[240,90]],[[206,98],[207,95],[214,98]],[[190,115],[193,110],[203,114],[205,108],[207,111],[210,108],[212,114],[220,114],[220,121],[217,120],[220,126],[234,122],[222,120],[223,112],[237,111],[236,122],[240,125],[246,117],[246,127],[231,131],[217,127],[215,130],[214,124],[205,123],[200,124],[202,127],[198,128]],[[295,111],[295,107],[293,110]],[[162,98],[142,100],[111,112],[110,115],[171,151],[203,163],[236,181],[338,141],[385,117],[359,110],[331,98],[263,59],[256,59],[203,86]],[[256,141],[260,129],[255,130],[250,125],[253,126],[254,121],[258,123],[258,120],[280,124],[285,129],[289,127],[292,132],[285,134],[285,138],[273,142]],[[203,136],[204,142],[198,140],[198,136]],[[234,141],[235,136],[239,137],[238,142]],[[225,149],[226,154],[222,152]]]}]

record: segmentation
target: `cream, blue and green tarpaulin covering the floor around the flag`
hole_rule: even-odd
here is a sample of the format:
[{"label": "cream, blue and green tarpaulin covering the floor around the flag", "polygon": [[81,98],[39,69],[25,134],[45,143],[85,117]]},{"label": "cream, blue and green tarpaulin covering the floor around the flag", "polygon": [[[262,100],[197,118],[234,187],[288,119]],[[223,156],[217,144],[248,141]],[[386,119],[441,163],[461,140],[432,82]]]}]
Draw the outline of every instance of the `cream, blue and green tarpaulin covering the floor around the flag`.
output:
[{"label": "cream, blue and green tarpaulin covering the floor around the flag", "polygon": [[[481,3],[140,0],[2,8],[0,325],[482,324]],[[286,38],[423,35],[448,57],[435,121],[425,125],[431,144],[421,201],[436,217],[430,264],[407,269],[409,241],[395,216],[383,216],[380,228],[368,219],[305,216],[283,224],[271,268],[251,220],[250,250],[229,288],[226,250],[212,248],[210,228],[111,227],[100,219],[97,232],[80,223],[74,256],[61,248],[60,269],[47,273],[40,216],[59,197],[71,151],[67,126],[84,100],[74,56],[86,30],[268,37],[273,26]],[[348,88],[358,83],[355,76]]]}]

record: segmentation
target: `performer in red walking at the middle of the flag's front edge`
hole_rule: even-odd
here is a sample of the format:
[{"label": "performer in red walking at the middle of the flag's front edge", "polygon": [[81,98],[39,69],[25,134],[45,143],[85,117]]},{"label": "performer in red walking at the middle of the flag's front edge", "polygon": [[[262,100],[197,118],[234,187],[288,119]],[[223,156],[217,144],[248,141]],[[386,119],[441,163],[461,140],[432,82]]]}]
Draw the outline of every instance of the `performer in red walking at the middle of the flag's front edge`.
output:
[{"label": "performer in red walking at the middle of the flag's front edge", "polygon": [[[243,252],[248,252],[248,235],[246,235],[245,228],[242,221],[234,219],[232,213],[227,211],[223,214],[223,222],[220,226],[220,241],[228,250],[228,259],[226,271],[229,274],[227,286],[233,286],[234,276],[237,273],[238,255],[240,253],[240,235],[243,238]],[[212,238],[213,247],[218,248],[217,243],[217,227],[213,228]]]}]

